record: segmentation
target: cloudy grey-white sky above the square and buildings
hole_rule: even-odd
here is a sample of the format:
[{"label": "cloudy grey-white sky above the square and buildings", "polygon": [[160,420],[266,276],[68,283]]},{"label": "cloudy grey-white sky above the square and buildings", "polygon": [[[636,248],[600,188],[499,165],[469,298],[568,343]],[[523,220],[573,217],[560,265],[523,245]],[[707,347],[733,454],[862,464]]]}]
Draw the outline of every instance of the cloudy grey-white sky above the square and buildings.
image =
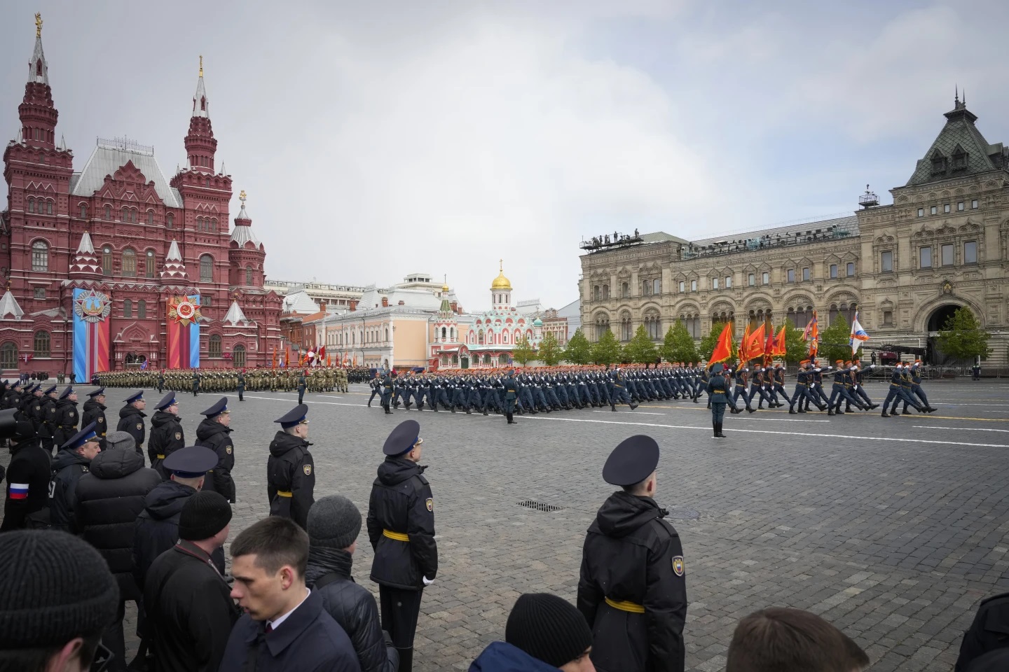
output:
[{"label": "cloudy grey-white sky above the square and buildings", "polygon": [[516,299],[573,300],[583,236],[851,212],[867,182],[890,203],[955,85],[1009,141],[1001,0],[17,0],[0,135],[35,11],[76,167],[128,135],[174,173],[202,53],[270,277],[447,273],[468,309],[498,258]]}]

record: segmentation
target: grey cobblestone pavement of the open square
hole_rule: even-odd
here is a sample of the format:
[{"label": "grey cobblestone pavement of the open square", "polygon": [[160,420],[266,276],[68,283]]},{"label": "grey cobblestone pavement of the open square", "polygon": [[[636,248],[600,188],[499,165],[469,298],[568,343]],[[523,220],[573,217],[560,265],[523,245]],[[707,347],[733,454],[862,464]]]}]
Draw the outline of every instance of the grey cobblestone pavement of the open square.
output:
[{"label": "grey cobblestone pavement of the open square", "polygon": [[[736,622],[775,604],[821,614],[869,652],[873,670],[889,672],[951,669],[977,603],[1009,590],[1009,386],[961,380],[925,389],[939,408],[927,416],[765,410],[726,416],[722,441],[711,438],[704,405],[683,402],[526,415],[508,426],[493,415],[386,416],[376,404],[365,408],[364,386],[306,401],[316,497],[344,494],[362,514],[388,430],[407,417],[421,422],[440,570],[424,594],[420,672],[466,669],[503,638],[522,592],[574,600],[585,529],[611,492],[602,462],[635,433],[662,446],[657,500],[683,542],[689,669],[721,670]],[[882,401],[885,386],[868,391]],[[124,396],[109,390],[109,417]],[[245,397],[231,404],[232,536],[267,514],[270,421],[297,403],[294,394]],[[192,439],[198,412],[216,397],[179,398]],[[354,574],[374,589],[363,532],[360,541]]]}]

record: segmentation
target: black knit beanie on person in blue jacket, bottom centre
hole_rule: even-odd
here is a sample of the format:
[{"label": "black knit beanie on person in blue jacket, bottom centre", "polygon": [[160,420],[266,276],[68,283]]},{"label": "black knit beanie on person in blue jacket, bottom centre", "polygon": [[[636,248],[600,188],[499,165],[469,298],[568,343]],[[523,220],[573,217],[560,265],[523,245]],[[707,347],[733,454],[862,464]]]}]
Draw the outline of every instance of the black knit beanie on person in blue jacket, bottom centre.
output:
[{"label": "black knit beanie on person in blue jacket, bottom centre", "polygon": [[560,667],[585,653],[592,631],[568,600],[549,592],[528,592],[516,600],[504,625],[504,641],[533,658]]}]

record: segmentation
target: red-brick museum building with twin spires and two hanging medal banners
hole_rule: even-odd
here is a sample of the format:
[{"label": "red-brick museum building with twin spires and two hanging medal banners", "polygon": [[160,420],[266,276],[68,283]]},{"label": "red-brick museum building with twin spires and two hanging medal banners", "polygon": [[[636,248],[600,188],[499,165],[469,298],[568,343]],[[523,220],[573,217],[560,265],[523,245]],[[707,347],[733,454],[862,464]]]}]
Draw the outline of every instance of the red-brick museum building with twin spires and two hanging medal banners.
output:
[{"label": "red-brick museum building with twin spires and two hanging medal banners", "polygon": [[3,375],[266,365],[283,299],[263,289],[244,191],[228,226],[231,176],[214,167],[202,63],[184,169],[165,179],[153,148],[99,139],[75,172],[37,15],[36,26],[21,128],[3,155]]}]

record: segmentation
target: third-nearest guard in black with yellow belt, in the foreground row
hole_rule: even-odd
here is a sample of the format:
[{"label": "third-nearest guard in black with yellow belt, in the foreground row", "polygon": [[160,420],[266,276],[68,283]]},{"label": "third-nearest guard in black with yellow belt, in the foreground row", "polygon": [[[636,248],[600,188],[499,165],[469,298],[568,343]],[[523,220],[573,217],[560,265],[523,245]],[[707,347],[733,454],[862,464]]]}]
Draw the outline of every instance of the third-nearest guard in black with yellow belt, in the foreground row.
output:
[{"label": "third-nearest guard in black with yellow belt, in the foreground row", "polygon": [[266,458],[266,499],[269,515],[290,518],[302,529],[315,502],[315,472],[309,452],[309,407],[298,404],[273,422],[281,423]]}]

